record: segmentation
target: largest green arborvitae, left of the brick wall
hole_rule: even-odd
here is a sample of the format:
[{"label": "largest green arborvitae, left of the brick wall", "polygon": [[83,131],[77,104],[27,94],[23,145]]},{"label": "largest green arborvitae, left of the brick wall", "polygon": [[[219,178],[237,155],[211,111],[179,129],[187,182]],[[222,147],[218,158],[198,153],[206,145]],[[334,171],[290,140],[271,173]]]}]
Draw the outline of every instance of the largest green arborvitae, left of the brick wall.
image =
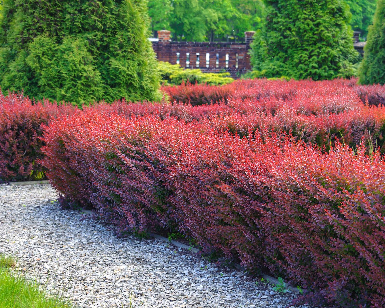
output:
[{"label": "largest green arborvitae, left of the brick wall", "polygon": [[4,0],[0,86],[77,104],[156,99],[147,26],[141,0]]}]

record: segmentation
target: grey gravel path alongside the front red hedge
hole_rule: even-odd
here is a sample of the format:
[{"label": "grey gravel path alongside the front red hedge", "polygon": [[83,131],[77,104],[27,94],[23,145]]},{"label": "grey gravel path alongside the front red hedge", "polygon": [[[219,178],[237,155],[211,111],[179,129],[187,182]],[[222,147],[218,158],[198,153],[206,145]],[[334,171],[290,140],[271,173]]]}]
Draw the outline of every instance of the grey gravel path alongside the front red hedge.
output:
[{"label": "grey gravel path alongside the front red hedge", "polygon": [[0,253],[16,256],[27,276],[63,291],[78,307],[129,307],[131,291],[135,308],[290,304],[290,295],[181,248],[116,238],[111,226],[62,211],[56,199],[49,185],[0,185]]}]

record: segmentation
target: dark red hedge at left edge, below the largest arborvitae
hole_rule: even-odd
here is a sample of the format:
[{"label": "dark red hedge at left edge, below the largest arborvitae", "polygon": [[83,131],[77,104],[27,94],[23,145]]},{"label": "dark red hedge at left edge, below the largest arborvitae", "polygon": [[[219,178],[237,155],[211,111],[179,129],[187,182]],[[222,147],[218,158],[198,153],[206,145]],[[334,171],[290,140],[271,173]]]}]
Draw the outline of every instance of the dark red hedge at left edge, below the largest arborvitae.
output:
[{"label": "dark red hedge at left edge, below the largest arborvitae", "polygon": [[42,124],[72,110],[47,100],[33,102],[23,94],[4,96],[0,91],[0,182],[44,178],[39,161],[43,158]]}]

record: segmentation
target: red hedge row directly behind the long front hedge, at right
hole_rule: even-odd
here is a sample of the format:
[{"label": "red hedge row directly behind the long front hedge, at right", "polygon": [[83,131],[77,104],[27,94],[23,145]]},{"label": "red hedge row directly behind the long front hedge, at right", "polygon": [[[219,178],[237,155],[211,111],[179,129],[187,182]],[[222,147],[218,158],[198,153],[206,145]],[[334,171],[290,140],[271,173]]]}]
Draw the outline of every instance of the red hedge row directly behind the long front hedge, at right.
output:
[{"label": "red hedge row directly behind the long front hedge, at right", "polygon": [[239,136],[260,131],[264,136],[271,132],[285,131],[297,140],[316,144],[328,151],[335,141],[355,148],[362,140],[370,151],[380,147],[385,152],[385,110],[382,106],[360,108],[330,114],[297,114],[290,109],[281,109],[274,115],[267,113],[224,114],[221,117],[203,119],[202,124],[218,131],[229,131]]}]

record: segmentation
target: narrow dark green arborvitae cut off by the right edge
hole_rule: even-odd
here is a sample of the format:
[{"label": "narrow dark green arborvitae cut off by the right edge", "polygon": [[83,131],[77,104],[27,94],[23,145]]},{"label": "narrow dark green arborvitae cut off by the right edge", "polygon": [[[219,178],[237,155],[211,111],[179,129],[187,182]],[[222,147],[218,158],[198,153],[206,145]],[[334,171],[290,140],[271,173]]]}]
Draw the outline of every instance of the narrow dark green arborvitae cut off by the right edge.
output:
[{"label": "narrow dark green arborvitae cut off by the right edge", "polygon": [[378,0],[359,70],[361,84],[385,84],[385,0]]}]

